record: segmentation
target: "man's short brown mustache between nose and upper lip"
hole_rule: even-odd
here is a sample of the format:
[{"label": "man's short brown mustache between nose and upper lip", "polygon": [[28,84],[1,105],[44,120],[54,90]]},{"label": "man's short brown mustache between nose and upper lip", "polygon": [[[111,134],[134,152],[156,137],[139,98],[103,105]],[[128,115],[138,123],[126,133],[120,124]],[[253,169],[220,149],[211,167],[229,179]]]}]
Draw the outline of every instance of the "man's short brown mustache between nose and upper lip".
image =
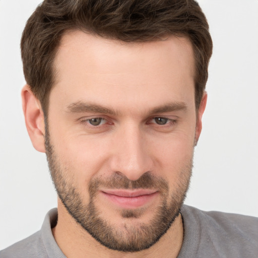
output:
[{"label": "man's short brown mustache between nose and upper lip", "polygon": [[168,192],[169,184],[162,178],[152,175],[149,172],[144,173],[139,179],[132,181],[123,174],[114,173],[110,177],[93,178],[89,183],[89,192],[94,193],[100,187],[110,189],[158,189]]}]

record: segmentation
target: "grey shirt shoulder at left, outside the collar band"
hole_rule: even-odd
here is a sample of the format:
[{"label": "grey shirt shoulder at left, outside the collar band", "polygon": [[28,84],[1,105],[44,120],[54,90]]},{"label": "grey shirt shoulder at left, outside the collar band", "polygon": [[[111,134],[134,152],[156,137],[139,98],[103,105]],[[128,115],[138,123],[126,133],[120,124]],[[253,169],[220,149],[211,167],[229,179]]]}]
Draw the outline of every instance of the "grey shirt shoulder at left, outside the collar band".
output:
[{"label": "grey shirt shoulder at left, outside the collar band", "polygon": [[28,258],[39,257],[46,258],[47,255],[44,252],[44,244],[41,237],[41,231],[34,233],[33,235],[7,247],[0,251],[1,258]]}]

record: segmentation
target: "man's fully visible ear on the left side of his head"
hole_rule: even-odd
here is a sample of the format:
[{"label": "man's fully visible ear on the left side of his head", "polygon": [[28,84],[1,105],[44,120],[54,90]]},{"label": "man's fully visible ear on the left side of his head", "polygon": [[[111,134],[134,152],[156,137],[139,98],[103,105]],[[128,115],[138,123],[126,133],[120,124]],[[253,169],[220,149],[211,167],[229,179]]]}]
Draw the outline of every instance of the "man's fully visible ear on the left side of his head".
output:
[{"label": "man's fully visible ear on the left side of his head", "polygon": [[39,152],[45,152],[44,114],[39,100],[32,93],[29,85],[25,85],[22,89],[22,107],[33,147]]}]

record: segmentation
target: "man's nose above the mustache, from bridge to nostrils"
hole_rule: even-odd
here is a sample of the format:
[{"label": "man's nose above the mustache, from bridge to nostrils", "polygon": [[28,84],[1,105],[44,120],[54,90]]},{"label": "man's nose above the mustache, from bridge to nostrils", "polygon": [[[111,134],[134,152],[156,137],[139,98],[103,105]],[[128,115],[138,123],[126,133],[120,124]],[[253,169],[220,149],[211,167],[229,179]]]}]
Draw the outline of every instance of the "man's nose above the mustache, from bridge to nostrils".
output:
[{"label": "man's nose above the mustache, from bridge to nostrils", "polygon": [[114,137],[111,170],[135,181],[153,170],[153,160],[148,149],[147,137],[139,126],[127,126]]}]

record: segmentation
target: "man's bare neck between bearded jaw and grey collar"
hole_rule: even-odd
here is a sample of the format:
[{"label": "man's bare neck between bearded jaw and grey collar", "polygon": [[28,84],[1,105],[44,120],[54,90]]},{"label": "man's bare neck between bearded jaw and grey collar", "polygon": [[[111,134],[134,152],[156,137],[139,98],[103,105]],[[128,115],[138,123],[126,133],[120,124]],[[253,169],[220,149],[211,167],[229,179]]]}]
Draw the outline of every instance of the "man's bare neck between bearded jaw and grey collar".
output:
[{"label": "man's bare neck between bearded jaw and grey collar", "polygon": [[142,251],[127,253],[111,250],[101,245],[71,217],[59,200],[57,209],[58,221],[52,233],[59,248],[68,258],[173,258],[177,257],[182,245],[181,215],[174,220],[169,230],[153,246]]}]

